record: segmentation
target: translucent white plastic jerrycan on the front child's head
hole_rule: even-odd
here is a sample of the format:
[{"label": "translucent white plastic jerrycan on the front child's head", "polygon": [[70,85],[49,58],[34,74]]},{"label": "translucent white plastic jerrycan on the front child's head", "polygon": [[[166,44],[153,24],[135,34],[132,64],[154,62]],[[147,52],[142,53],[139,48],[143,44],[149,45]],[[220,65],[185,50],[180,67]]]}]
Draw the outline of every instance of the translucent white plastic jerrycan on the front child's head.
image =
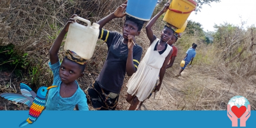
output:
[{"label": "translucent white plastic jerrycan on the front child's head", "polygon": [[73,17],[74,20],[81,20],[87,23],[83,26],[77,22],[70,23],[67,39],[64,44],[64,51],[70,50],[75,52],[81,58],[89,60],[93,56],[99,37],[99,24],[93,23],[81,17]]}]

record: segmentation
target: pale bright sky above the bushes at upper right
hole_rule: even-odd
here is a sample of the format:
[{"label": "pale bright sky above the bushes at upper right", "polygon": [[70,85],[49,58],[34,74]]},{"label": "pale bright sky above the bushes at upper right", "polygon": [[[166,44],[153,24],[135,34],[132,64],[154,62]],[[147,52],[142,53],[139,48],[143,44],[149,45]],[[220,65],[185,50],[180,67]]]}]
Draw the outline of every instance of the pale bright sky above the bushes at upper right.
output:
[{"label": "pale bright sky above the bushes at upper right", "polygon": [[[193,20],[202,24],[204,31],[212,31],[214,23],[217,25],[224,22],[241,26],[242,21],[246,21],[244,29],[253,24],[256,25],[256,0],[221,0],[219,3],[203,5],[201,12],[195,15],[192,12],[188,20]],[[241,18],[239,17],[241,16]]]}]

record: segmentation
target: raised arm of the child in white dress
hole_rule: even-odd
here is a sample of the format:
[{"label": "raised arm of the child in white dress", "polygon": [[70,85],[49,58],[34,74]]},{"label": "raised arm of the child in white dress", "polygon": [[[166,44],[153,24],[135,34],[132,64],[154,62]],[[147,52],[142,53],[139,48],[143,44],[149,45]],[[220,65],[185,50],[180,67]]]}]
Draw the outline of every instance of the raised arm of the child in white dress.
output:
[{"label": "raised arm of the child in white dress", "polygon": [[[153,43],[153,41],[157,38],[151,27],[154,25],[154,23],[157,21],[157,19],[160,17],[160,15],[162,15],[164,12],[166,12],[168,10],[168,7],[169,7],[169,3],[166,3],[163,7],[163,9],[157,13],[157,15],[155,15],[149,22],[148,24],[146,25],[146,32],[147,32],[147,36],[148,36],[148,39],[150,41],[150,45]],[[150,46],[149,45],[149,46]]]}]

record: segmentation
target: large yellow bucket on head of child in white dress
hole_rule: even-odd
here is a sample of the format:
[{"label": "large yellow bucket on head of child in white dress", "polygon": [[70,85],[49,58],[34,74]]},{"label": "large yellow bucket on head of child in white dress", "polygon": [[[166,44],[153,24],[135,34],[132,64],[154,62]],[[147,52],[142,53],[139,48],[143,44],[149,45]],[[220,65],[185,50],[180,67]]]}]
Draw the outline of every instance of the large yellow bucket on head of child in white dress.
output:
[{"label": "large yellow bucket on head of child in white dress", "polygon": [[195,11],[197,3],[193,0],[172,0],[163,21],[181,29],[191,12]]}]

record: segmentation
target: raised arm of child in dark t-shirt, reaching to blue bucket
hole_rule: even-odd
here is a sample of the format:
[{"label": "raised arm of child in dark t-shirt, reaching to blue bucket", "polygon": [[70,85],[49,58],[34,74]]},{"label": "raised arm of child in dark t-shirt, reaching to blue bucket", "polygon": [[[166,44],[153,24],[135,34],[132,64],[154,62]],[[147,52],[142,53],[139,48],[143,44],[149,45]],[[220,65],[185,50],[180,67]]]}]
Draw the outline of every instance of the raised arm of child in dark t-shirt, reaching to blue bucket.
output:
[{"label": "raised arm of child in dark t-shirt, reaching to blue bucket", "polygon": [[97,23],[99,24],[99,29],[102,29],[103,26],[105,26],[106,23],[108,23],[110,20],[117,18],[117,17],[124,17],[126,14],[123,14],[123,12],[125,12],[126,9],[126,5],[127,4],[127,0],[125,1],[125,3],[123,3],[122,5],[120,5],[115,12],[112,12],[110,15],[104,17],[103,19],[99,20]]}]

